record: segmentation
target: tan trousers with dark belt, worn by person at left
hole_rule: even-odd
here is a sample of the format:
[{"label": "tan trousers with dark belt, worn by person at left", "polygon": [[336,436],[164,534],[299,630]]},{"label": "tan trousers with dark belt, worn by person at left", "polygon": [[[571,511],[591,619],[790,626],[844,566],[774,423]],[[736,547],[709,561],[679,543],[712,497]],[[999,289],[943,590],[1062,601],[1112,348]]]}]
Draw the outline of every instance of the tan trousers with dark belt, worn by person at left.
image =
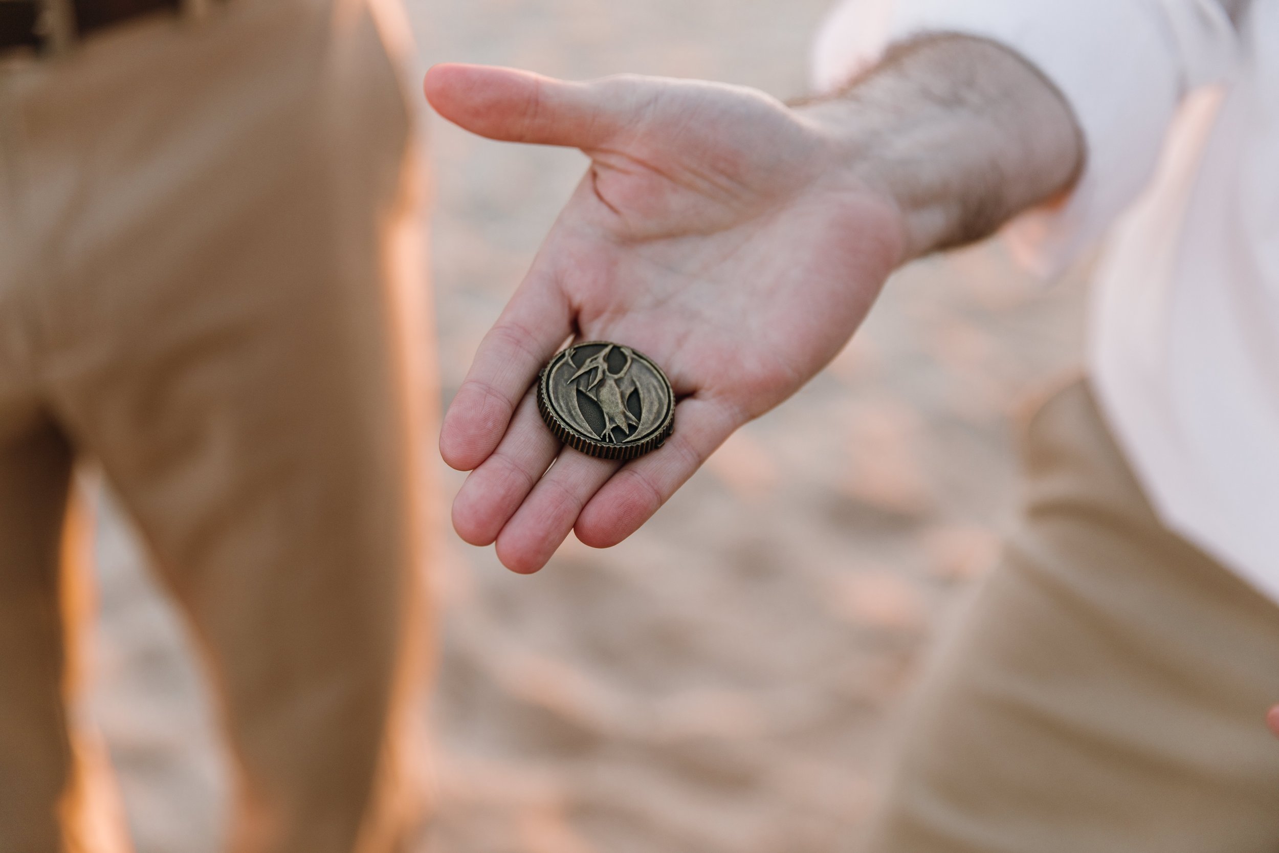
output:
[{"label": "tan trousers with dark belt, worn by person at left", "polygon": [[82,457],[205,652],[233,848],[403,849],[421,817],[404,90],[365,0],[214,6],[0,64],[4,853],[124,844],[75,710]]}]

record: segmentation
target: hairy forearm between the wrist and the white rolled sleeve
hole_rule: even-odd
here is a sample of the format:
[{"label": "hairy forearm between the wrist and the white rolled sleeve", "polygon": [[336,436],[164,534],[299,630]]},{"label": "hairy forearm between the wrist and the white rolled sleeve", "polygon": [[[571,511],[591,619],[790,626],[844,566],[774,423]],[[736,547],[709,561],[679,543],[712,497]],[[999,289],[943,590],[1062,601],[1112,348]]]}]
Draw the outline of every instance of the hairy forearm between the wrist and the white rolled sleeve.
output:
[{"label": "hairy forearm between the wrist and the white rolled sleeve", "polygon": [[966,36],[899,46],[842,92],[797,109],[854,183],[897,205],[903,260],[990,235],[1067,191],[1085,160],[1053,84],[1012,51]]}]

